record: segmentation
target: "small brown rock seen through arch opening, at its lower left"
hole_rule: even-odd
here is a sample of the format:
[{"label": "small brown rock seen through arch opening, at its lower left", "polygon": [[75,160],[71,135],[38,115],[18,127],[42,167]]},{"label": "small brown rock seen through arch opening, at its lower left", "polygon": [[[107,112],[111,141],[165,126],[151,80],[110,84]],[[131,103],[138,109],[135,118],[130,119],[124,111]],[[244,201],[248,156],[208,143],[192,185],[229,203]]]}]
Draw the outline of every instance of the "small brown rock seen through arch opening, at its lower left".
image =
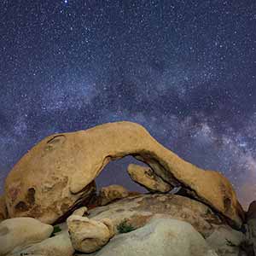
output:
[{"label": "small brown rock seen through arch opening, at its lower left", "polygon": [[125,198],[129,195],[129,191],[120,185],[110,185],[108,187],[103,187],[97,198],[99,206],[105,206],[108,203],[115,201],[117,199]]}]

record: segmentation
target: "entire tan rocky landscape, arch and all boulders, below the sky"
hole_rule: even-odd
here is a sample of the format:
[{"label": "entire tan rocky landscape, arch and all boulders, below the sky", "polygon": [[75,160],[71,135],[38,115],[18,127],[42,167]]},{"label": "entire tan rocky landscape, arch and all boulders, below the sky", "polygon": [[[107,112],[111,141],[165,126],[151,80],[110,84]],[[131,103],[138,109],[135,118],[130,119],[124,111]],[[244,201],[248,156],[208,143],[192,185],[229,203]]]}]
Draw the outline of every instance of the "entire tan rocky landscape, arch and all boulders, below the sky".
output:
[{"label": "entire tan rocky landscape, arch and all boulders, below the sky", "polygon": [[[96,190],[110,160],[132,155],[131,179]],[[0,197],[0,255],[253,256],[256,202],[244,212],[230,182],[119,122],[45,138],[15,165]]]}]

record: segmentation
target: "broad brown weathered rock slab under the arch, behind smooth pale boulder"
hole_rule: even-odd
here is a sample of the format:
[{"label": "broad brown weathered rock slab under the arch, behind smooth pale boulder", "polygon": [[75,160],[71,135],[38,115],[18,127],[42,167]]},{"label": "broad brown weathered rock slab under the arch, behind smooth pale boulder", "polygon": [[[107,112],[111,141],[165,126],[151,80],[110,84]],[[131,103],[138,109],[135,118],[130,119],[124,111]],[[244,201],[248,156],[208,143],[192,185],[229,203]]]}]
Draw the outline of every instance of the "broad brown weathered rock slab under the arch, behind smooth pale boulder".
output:
[{"label": "broad brown weathered rock slab under the arch, behind smooth pale boulder", "polygon": [[[218,256],[241,256],[246,237],[233,230],[210,207],[181,195],[137,195],[88,211],[90,219],[111,219],[116,235],[125,228],[138,229],[156,218],[175,218],[191,224]],[[120,229],[121,228],[121,229]]]}]

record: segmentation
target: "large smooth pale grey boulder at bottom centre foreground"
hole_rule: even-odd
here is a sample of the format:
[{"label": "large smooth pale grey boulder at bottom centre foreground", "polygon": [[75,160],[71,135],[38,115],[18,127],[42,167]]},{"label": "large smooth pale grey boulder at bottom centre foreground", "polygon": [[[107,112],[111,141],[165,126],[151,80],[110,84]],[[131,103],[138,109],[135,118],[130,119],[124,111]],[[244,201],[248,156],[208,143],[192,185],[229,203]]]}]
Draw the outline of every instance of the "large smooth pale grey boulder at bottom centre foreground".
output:
[{"label": "large smooth pale grey boulder at bottom centre foreground", "polygon": [[141,229],[113,237],[90,255],[218,256],[190,224],[176,219],[155,219]]}]

